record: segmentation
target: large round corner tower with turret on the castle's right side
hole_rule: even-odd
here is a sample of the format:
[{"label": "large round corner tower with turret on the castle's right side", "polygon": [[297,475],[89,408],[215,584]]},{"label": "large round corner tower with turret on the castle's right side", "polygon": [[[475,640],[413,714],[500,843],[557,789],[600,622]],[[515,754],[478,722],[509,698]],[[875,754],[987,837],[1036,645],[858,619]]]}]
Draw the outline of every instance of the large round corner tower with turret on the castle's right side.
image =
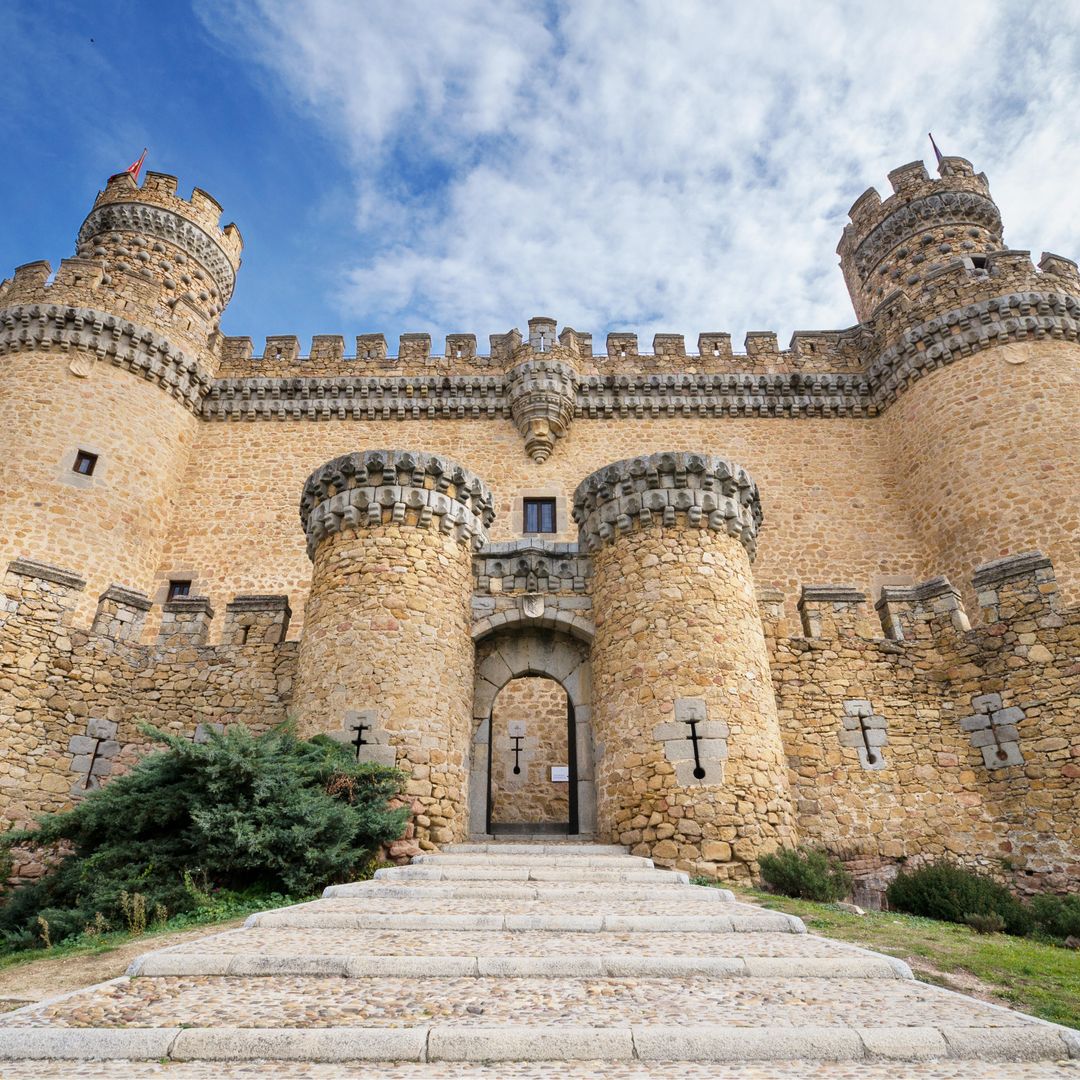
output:
[{"label": "large round corner tower with turret on the castle's right side", "polygon": [[1080,276],[1070,259],[1004,248],[986,176],[943,158],[889,174],[840,240],[923,577],[972,613],[974,568],[1038,549],[1080,599]]}]

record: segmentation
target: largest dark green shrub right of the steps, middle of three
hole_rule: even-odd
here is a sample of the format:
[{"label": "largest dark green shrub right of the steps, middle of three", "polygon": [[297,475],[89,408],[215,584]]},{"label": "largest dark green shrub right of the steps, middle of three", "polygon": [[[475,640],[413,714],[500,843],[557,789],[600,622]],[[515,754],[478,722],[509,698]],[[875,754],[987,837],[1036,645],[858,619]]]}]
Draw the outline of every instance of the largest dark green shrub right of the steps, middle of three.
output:
[{"label": "largest dark green shrub right of the steps, middle of three", "polygon": [[886,890],[886,899],[894,912],[945,922],[997,915],[1010,934],[1026,934],[1032,926],[1028,909],[1003,885],[949,860],[901,870]]}]

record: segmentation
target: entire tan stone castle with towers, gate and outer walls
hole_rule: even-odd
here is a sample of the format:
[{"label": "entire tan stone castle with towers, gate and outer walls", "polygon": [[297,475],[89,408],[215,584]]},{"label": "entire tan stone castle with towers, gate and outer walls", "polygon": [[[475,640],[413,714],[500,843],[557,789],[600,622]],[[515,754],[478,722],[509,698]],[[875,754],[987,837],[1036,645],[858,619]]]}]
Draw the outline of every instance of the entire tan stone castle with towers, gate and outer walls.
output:
[{"label": "entire tan stone castle with towers, gate and outer walls", "polygon": [[[148,720],[409,774],[405,856],[594,835],[714,878],[807,842],[1080,882],[1080,274],[962,158],[858,199],[858,324],[224,337],[242,241],[100,192],[0,284],[0,811]],[[299,505],[299,517],[297,516]],[[32,865],[18,867],[24,874]]]}]

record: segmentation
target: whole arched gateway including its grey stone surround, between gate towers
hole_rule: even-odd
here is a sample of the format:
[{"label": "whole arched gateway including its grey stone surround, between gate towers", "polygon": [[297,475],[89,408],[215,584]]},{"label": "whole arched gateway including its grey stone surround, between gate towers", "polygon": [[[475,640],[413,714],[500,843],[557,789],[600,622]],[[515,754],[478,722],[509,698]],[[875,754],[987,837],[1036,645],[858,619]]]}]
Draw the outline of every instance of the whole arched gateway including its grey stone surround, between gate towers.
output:
[{"label": "whole arched gateway including its grey stone surround, between gate towers", "polygon": [[[516,681],[523,684],[521,690],[514,689]],[[556,686],[553,688],[551,684]],[[500,708],[498,699],[508,687],[508,697]],[[564,702],[566,708],[566,733],[562,739],[557,738],[555,711],[558,702]],[[545,714],[542,725],[536,717],[530,726],[528,716],[523,716],[524,706],[530,703],[542,704]],[[518,735],[516,755],[523,771],[515,777],[514,737],[510,733],[510,721],[523,718],[525,733]],[[515,725],[514,730],[521,730],[519,726]],[[530,739],[535,742],[527,745]],[[559,750],[565,751],[565,759],[548,759]],[[524,753],[531,753],[532,757],[526,758]],[[553,827],[557,827],[558,832],[570,835],[593,835],[596,828],[593,760],[592,676],[588,642],[561,630],[527,624],[522,629],[504,626],[477,640],[469,770],[470,835],[492,835],[490,827],[500,824],[524,826],[521,832],[530,831],[528,826],[531,824],[543,824],[545,827],[536,832],[552,832]],[[496,766],[494,769],[492,764]],[[553,782],[552,767],[565,767],[566,781]],[[546,779],[541,780],[541,777]],[[561,784],[565,785],[566,818],[555,822],[552,814],[561,804],[552,788]],[[526,785],[530,791],[523,791]],[[546,807],[546,822],[508,820],[515,815],[521,818],[526,808],[540,805]],[[502,822],[500,814],[504,819]]]}]

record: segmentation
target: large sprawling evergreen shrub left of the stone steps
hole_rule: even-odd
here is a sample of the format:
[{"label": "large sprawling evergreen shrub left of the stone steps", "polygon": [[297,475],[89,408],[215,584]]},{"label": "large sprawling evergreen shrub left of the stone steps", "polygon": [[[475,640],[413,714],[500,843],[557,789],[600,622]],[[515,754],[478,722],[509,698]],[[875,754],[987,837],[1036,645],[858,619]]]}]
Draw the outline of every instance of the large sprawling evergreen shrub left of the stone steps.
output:
[{"label": "large sprawling evergreen shrub left of the stone steps", "polygon": [[56,856],[4,895],[0,947],[55,943],[98,920],[143,928],[147,913],[201,910],[218,892],[310,895],[361,876],[404,829],[407,809],[387,807],[403,774],[357,764],[325,735],[238,725],[193,743],[145,730],[165,748],[38,828],[0,838]]}]

